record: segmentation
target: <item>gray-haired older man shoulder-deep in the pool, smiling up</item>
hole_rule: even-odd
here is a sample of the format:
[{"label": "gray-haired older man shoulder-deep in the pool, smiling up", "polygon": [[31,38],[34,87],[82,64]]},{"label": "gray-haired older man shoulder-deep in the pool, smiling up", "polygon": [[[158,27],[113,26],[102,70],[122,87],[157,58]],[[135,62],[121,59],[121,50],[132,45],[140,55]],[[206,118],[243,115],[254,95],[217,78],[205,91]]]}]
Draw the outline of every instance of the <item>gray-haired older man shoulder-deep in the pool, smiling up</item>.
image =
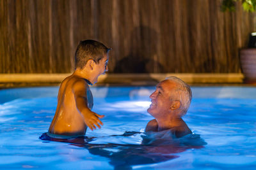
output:
[{"label": "gray-haired older man shoulder-deep in the pool, smiling up", "polygon": [[182,120],[191,98],[189,85],[175,76],[158,83],[156,90],[150,95],[152,103],[147,110],[155,119],[148,122],[145,131],[170,130],[177,138],[191,134],[188,125]]}]

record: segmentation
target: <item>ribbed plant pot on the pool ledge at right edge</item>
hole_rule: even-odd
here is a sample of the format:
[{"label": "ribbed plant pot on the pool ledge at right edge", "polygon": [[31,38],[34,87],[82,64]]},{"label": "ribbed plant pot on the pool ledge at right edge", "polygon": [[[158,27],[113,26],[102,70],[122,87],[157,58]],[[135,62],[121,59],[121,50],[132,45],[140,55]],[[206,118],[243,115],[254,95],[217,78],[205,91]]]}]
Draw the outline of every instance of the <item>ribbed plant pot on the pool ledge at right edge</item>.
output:
[{"label": "ribbed plant pot on the pool ledge at right edge", "polygon": [[256,84],[256,48],[244,48],[240,50],[244,83]]}]

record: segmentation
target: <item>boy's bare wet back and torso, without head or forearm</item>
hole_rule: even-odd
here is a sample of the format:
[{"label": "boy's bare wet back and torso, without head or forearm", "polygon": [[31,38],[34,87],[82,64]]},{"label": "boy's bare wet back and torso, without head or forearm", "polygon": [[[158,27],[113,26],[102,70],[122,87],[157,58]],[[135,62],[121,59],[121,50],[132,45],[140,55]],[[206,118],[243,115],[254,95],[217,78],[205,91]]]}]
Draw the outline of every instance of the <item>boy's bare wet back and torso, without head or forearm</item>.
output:
[{"label": "boy's bare wet back and torso, without head or forearm", "polygon": [[77,110],[74,94],[81,93],[92,110],[93,98],[88,83],[72,74],[63,80],[58,94],[58,105],[49,132],[61,135],[84,135],[87,129],[84,118]]}]

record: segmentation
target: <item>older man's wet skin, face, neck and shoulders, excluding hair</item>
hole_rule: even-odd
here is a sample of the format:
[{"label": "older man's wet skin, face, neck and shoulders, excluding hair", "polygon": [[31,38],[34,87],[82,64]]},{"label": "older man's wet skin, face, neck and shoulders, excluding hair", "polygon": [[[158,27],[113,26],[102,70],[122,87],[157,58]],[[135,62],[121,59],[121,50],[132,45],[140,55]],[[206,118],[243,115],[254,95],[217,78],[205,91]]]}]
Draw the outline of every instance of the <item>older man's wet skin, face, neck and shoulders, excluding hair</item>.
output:
[{"label": "older man's wet skin, face, neck and shoulders, excluding hair", "polygon": [[150,95],[152,103],[147,110],[155,119],[148,122],[146,132],[170,129],[177,138],[192,133],[180,116],[181,102],[177,100],[179,94],[175,89],[177,84],[170,80],[157,84],[156,90]]}]

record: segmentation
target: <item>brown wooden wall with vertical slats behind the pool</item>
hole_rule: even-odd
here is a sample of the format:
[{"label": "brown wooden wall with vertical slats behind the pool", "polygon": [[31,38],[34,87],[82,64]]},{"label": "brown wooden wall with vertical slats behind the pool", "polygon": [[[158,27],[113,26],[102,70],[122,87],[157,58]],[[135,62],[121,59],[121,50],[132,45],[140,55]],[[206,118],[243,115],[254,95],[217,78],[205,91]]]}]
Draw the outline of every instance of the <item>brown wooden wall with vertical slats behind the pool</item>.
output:
[{"label": "brown wooden wall with vertical slats behind the pool", "polygon": [[0,73],[70,73],[80,40],[110,73],[239,73],[255,14],[221,0],[1,0]]}]

